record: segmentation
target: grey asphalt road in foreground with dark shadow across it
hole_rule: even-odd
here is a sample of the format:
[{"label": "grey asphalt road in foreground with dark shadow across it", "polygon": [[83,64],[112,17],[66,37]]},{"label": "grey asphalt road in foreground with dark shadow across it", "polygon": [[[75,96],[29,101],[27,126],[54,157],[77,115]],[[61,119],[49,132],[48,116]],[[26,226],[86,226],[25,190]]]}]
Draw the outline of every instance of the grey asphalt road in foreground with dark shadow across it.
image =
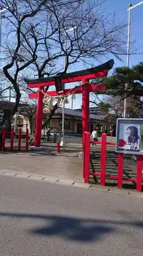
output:
[{"label": "grey asphalt road in foreground with dark shadow across it", "polygon": [[0,176],[1,256],[143,254],[143,202]]}]

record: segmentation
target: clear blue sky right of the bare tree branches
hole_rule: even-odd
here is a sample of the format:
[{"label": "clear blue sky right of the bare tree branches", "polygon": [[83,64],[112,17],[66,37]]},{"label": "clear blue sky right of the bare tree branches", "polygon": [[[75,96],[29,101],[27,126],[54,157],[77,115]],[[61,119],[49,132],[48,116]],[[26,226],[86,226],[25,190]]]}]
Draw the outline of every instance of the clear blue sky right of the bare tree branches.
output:
[{"label": "clear blue sky right of the bare tree branches", "polygon": [[[113,13],[116,12],[117,19],[123,20],[125,23],[128,21],[128,6],[132,3],[132,5],[136,5],[137,3],[141,2],[141,0],[108,0],[104,3],[104,13]],[[140,48],[140,52],[143,52],[141,47],[143,46],[143,32],[142,32],[142,23],[143,23],[143,4],[140,6],[135,7],[131,13],[131,41],[135,40],[135,47],[138,49]],[[110,55],[109,58],[112,58]],[[115,59],[115,58],[114,58]],[[107,61],[103,58],[102,62]],[[143,61],[143,55],[131,55],[130,56],[130,66],[136,65],[139,61]],[[98,65],[98,64],[97,64]],[[126,56],[123,56],[123,62],[115,59],[115,66],[126,66]],[[77,68],[77,67],[75,67]],[[85,68],[85,67],[84,67]],[[80,68],[81,69],[81,68]],[[74,70],[74,69],[73,69]],[[72,87],[72,84],[70,84]],[[69,84],[66,86],[69,88]],[[93,98],[92,98],[93,99]],[[80,108],[82,103],[82,97],[80,94],[76,95],[76,99],[73,101],[73,108]],[[71,108],[71,99],[69,98],[69,104],[66,104],[66,108]]]}]

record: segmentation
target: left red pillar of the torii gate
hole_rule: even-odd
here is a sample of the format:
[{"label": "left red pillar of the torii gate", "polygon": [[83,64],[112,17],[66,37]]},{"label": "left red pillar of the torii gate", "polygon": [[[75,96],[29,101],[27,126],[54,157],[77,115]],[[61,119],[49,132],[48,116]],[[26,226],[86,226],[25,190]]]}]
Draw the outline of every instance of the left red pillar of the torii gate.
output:
[{"label": "left red pillar of the torii gate", "polygon": [[37,115],[36,115],[36,129],[35,129],[35,144],[34,146],[40,146],[41,141],[41,129],[43,120],[43,93],[40,92],[42,87],[38,87],[38,101],[37,101]]}]

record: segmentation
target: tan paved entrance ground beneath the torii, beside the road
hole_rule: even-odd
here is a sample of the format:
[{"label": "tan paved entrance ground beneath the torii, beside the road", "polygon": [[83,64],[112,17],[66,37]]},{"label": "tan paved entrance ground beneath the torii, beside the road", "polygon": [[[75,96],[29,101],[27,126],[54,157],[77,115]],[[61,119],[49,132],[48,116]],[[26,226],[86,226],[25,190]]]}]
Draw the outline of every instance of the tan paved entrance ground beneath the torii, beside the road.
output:
[{"label": "tan paved entrance ground beneath the torii, beside the road", "polygon": [[[77,157],[82,151],[81,141],[81,137],[66,136],[66,147],[60,154],[56,154],[55,143],[45,142],[45,152],[0,153],[0,169],[83,182],[82,159]],[[9,144],[7,140],[6,146]]]}]

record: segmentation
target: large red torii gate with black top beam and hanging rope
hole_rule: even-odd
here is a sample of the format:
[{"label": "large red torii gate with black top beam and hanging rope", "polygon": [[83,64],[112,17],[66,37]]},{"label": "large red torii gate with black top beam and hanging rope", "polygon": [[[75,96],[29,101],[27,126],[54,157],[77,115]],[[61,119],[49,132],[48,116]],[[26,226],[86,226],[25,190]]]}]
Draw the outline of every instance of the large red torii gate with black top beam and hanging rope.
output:
[{"label": "large red torii gate with black top beam and hanging rope", "polygon": [[[27,83],[28,88],[38,88],[36,93],[28,94],[29,98],[38,98],[37,102],[37,117],[36,117],[36,130],[35,130],[35,147],[40,146],[41,129],[42,129],[42,119],[43,119],[43,97],[45,94],[49,97],[53,96],[66,96],[73,92],[75,94],[82,93],[82,134],[84,132],[89,132],[90,124],[90,107],[89,107],[89,95],[90,92],[94,91],[104,91],[105,86],[102,84],[93,85],[90,79],[101,78],[107,76],[108,71],[113,67],[114,61],[110,59],[109,61],[103,63],[102,65],[72,72],[72,73],[61,73],[54,77],[46,77],[41,79],[24,79]],[[63,89],[63,84],[70,82],[82,81],[79,87],[72,89]],[[56,91],[47,92],[44,87],[53,86],[55,84]],[[83,138],[83,137],[82,137]],[[83,140],[82,140],[83,141]]]}]

